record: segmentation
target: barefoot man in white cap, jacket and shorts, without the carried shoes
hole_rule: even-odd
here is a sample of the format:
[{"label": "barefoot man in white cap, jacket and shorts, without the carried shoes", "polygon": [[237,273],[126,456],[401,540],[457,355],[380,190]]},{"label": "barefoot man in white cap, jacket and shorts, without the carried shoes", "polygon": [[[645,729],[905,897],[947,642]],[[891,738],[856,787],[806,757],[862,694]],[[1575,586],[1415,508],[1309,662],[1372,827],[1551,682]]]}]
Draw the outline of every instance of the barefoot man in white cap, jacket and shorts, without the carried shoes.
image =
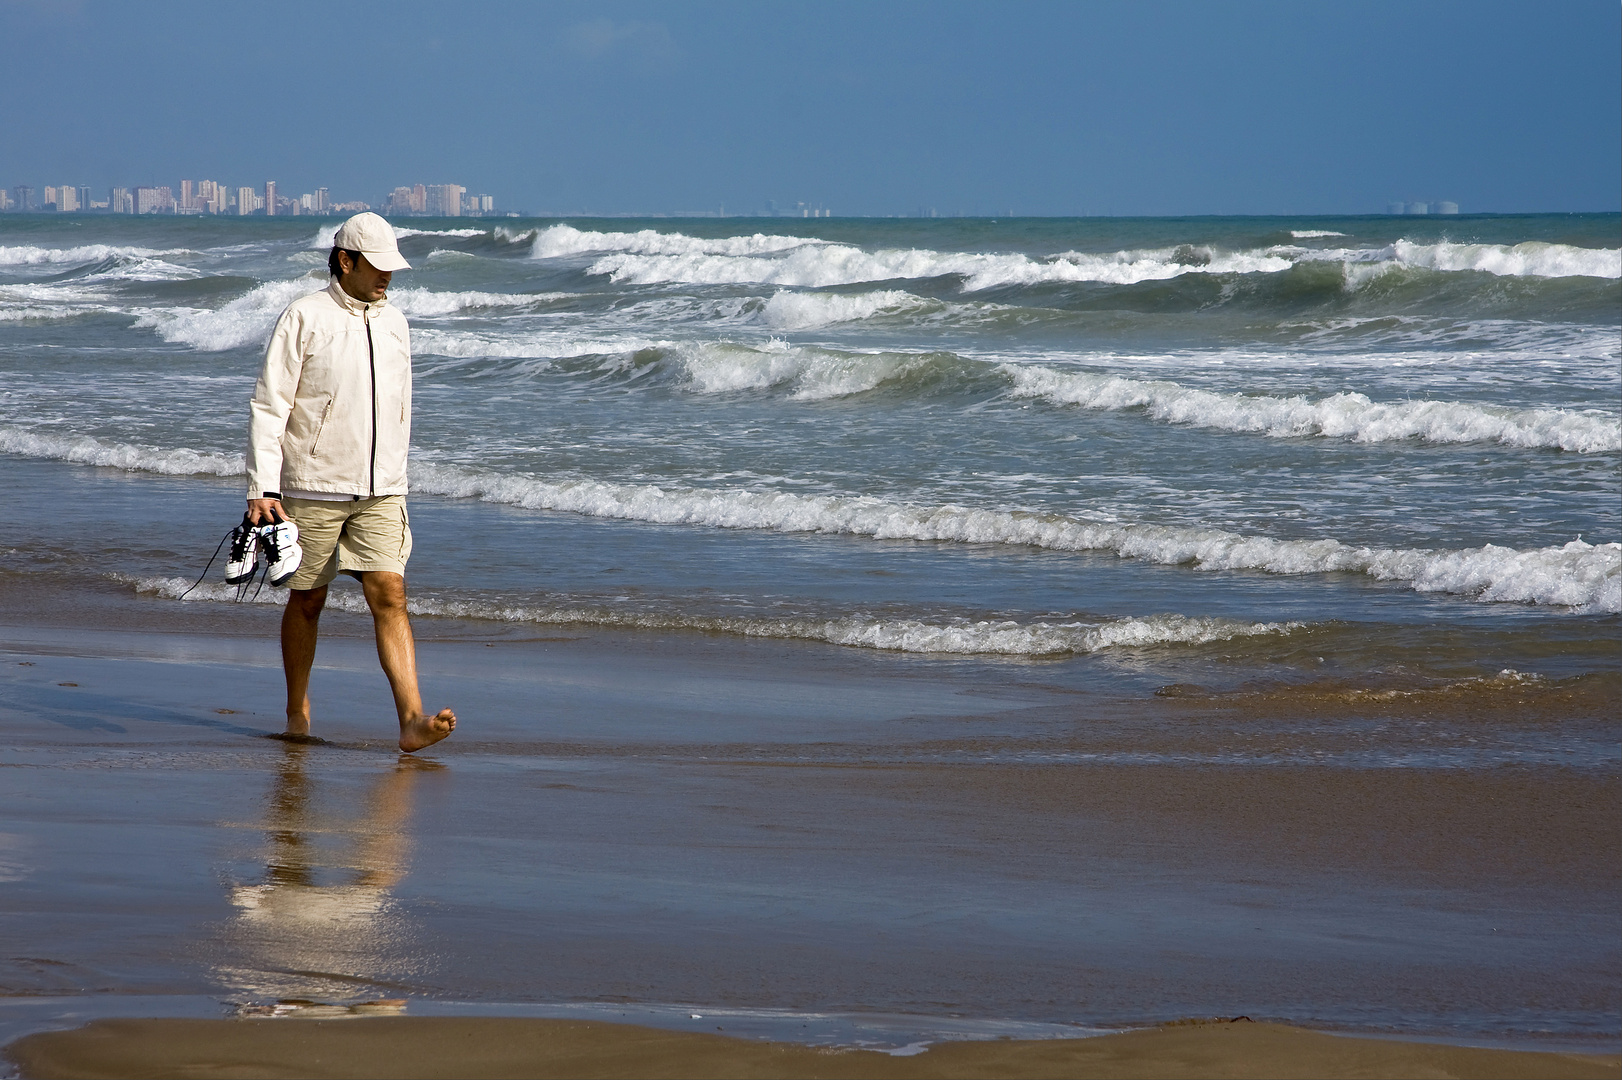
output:
[{"label": "barefoot man in white cap, jacket and shorts, without the carried shoes", "polygon": [[423,714],[406,616],[410,331],[388,289],[410,264],[386,221],[355,214],[333,238],[326,266],[326,292],[287,305],[264,352],[248,405],[248,519],[289,517],[303,546],[282,615],[287,733],[310,733],[316,628],[342,571],[360,579],[394,689],[399,746],[414,752],[448,736],[456,714]]}]

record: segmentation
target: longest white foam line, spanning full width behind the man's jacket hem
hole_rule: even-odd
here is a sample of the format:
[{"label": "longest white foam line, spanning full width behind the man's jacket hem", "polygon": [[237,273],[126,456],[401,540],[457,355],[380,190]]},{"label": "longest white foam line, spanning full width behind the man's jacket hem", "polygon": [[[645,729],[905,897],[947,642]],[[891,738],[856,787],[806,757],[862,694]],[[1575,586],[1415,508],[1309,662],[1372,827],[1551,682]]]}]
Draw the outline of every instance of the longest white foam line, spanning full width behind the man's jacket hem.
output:
[{"label": "longest white foam line, spanning full width behind the man's jacket hem", "polygon": [[[159,474],[240,475],[235,454],[152,449],[89,436],[54,436],[0,426],[0,451]],[[710,529],[842,534],[878,540],[941,540],[1106,551],[1121,558],[1202,571],[1268,574],[1367,574],[1416,592],[1445,592],[1483,602],[1518,602],[1622,611],[1622,543],[1546,548],[1375,548],[1340,540],[1275,540],[1221,529],[1096,522],[1067,514],[892,503],[873,496],[702,490],[600,480],[540,480],[412,464],[412,491],[477,498],[589,517]]]}]

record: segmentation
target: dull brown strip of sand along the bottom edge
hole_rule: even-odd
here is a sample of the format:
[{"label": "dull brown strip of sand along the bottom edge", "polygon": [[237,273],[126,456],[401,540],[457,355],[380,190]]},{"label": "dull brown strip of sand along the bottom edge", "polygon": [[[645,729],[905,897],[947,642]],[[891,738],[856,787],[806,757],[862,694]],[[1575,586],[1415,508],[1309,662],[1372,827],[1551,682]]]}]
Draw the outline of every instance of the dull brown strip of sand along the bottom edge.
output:
[{"label": "dull brown strip of sand along the bottom edge", "polygon": [[102,1020],[6,1048],[57,1077],[1619,1077],[1622,1059],[1199,1023],[912,1056],[566,1020]]}]

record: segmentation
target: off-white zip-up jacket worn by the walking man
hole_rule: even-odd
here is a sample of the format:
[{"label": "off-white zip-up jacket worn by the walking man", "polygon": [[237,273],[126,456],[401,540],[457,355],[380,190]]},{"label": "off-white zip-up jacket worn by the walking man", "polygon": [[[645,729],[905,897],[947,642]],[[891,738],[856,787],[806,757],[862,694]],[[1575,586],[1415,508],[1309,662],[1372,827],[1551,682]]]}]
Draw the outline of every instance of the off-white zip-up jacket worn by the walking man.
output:
[{"label": "off-white zip-up jacket worn by the walking man", "polygon": [[276,319],[248,404],[248,498],[406,495],[410,329],[337,279]]}]

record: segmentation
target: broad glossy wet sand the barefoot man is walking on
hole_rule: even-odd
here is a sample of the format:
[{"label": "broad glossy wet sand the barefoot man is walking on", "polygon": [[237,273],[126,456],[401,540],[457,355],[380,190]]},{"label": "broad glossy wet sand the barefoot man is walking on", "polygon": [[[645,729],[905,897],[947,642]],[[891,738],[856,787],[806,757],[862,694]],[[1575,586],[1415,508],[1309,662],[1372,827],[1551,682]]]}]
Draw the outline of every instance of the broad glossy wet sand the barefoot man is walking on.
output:
[{"label": "broad glossy wet sand the barefoot man is walking on", "polygon": [[[427,697],[467,722],[401,757],[360,616],[323,624],[324,739],[284,743],[264,738],[274,608],[37,579],[0,605],[0,913],[28,942],[0,957],[0,1004],[62,1002],[0,1038],[141,996],[177,1002],[144,1015],[404,997],[422,1030],[469,1002],[715,1035],[691,1005],[819,1044],[1223,1012],[1616,1048],[1614,769],[1255,752],[1505,720],[1382,699],[1366,728],[1314,726],[1087,692],[1062,665],[418,619]],[[863,1028],[876,1012],[900,1020]]]}]

